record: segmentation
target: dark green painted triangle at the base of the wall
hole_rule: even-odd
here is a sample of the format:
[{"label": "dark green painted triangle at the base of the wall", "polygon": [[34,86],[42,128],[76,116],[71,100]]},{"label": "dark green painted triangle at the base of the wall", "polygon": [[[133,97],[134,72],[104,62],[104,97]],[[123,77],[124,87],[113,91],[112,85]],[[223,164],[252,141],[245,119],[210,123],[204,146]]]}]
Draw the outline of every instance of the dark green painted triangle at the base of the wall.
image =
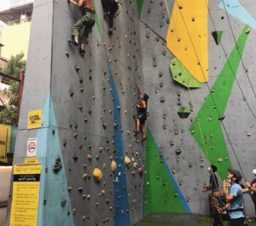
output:
[{"label": "dark green painted triangle at the base of the wall", "polygon": [[[144,209],[143,215],[162,213],[186,213],[182,203],[182,194],[175,183],[171,181],[170,174],[161,157],[157,144],[149,130],[147,130],[146,140],[146,174],[144,188]],[[177,196],[176,193],[179,193]],[[187,207],[188,208],[188,207]]]}]

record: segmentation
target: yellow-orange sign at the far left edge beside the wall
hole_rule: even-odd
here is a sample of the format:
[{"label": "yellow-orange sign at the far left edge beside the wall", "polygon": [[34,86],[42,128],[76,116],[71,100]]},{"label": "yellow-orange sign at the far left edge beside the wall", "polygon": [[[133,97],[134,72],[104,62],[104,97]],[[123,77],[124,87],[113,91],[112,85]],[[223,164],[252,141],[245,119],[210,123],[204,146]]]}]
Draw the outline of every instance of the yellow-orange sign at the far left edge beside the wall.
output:
[{"label": "yellow-orange sign at the far left edge beside the wall", "polygon": [[10,150],[12,126],[0,124],[0,161],[7,162],[7,152]]}]

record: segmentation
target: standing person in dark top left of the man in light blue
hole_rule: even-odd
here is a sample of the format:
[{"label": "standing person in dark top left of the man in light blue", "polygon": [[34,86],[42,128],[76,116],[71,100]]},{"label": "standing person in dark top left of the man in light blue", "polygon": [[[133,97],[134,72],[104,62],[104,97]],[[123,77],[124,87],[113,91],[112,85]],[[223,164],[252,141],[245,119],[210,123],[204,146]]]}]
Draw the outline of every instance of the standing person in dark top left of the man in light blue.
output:
[{"label": "standing person in dark top left of the man in light blue", "polygon": [[222,226],[222,219],[221,214],[217,211],[217,208],[219,208],[220,200],[221,200],[221,194],[219,191],[219,182],[215,172],[217,172],[217,166],[211,165],[211,167],[208,168],[209,174],[210,174],[210,182],[209,185],[203,186],[203,192],[210,191],[210,197],[211,197],[211,206],[213,208],[214,213],[214,224],[213,226]]}]

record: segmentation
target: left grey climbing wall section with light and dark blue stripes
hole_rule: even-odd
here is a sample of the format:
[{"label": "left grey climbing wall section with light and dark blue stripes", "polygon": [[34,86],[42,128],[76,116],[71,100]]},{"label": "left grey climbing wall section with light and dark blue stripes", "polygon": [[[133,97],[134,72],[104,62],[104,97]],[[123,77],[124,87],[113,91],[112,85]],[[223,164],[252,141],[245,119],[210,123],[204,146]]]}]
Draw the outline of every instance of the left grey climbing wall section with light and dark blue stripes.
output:
[{"label": "left grey climbing wall section with light and dark blue stripes", "polygon": [[[101,1],[94,4],[96,24],[81,58],[67,42],[78,8],[34,1],[14,164],[24,163],[28,139],[37,138],[37,225],[128,226],[142,218],[146,148],[132,134],[135,83],[143,85],[137,4],[120,1],[113,36]],[[28,129],[34,110],[42,110],[42,126]]]}]

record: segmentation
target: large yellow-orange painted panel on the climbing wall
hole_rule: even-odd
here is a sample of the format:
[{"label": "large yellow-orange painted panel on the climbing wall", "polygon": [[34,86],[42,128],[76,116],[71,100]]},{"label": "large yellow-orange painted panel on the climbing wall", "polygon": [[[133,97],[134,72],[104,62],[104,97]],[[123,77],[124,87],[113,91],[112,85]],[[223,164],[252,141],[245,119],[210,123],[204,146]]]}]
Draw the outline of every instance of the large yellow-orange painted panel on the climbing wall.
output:
[{"label": "large yellow-orange painted panel on the climbing wall", "polygon": [[176,0],[167,48],[198,82],[208,82],[208,0]]}]

